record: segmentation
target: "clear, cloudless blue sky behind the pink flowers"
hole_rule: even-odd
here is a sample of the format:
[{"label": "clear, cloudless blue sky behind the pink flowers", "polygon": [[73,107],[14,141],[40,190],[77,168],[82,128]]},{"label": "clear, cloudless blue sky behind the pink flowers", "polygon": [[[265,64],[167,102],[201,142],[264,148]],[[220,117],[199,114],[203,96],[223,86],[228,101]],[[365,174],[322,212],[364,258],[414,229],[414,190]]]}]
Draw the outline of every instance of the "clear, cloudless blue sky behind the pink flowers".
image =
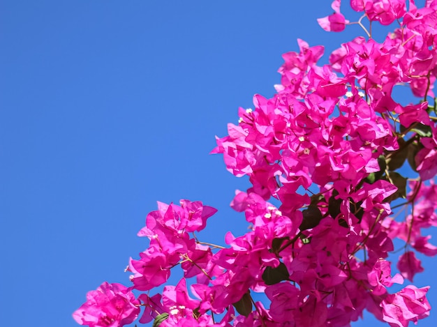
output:
[{"label": "clear, cloudless blue sky behind the pink flowers", "polygon": [[[229,203],[248,182],[209,155],[214,136],[274,94],[297,38],[329,53],[363,35],[323,31],[330,13],[325,0],[0,0],[1,326],[79,326],[87,291],[128,284],[156,201],[218,208],[203,241],[244,234]],[[436,260],[423,266],[415,284],[437,305]],[[386,326],[367,316],[353,326]]]}]

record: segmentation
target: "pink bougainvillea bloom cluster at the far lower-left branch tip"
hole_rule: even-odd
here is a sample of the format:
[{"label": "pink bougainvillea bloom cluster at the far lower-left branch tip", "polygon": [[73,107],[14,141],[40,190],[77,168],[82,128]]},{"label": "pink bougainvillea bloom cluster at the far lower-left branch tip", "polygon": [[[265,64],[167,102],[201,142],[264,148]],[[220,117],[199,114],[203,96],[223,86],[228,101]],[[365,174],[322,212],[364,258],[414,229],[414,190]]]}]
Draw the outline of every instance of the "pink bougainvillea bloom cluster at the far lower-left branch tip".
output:
[{"label": "pink bougainvillea bloom cluster at the far lower-left branch tip", "polygon": [[140,301],[130,288],[104,282],[89,291],[87,302],[73,313],[78,324],[90,327],[121,327],[131,324],[140,313]]}]

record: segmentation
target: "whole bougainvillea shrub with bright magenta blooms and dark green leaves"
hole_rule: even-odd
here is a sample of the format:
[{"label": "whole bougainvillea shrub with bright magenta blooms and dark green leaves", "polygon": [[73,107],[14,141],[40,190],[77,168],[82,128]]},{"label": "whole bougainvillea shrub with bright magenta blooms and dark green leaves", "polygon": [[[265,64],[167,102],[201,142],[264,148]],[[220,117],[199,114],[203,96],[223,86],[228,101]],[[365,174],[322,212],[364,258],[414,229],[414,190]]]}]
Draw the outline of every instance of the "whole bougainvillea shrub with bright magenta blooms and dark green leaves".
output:
[{"label": "whole bougainvillea shrub with bright magenta blooms and dark green leaves", "polygon": [[[340,5],[334,0],[334,13],[318,20],[326,31],[355,24]],[[251,229],[226,234],[226,248],[203,243],[195,231],[216,209],[158,202],[138,233],[150,243],[129,262],[131,287],[104,283],[89,292],[73,314],[79,324],[124,326],[141,316],[140,324],[161,327],[341,327],[366,309],[407,326],[429,315],[429,287],[388,288],[423,271],[415,252],[437,254],[422,234],[437,225],[437,0],[424,8],[413,0],[350,6],[363,13],[356,24],[368,39],[344,43],[324,66],[323,47],[298,40],[299,53],[283,54],[276,94],[255,95],[255,109],[240,108],[238,125],[217,139],[212,153],[223,154],[235,176],[249,176],[251,188],[237,191],[231,206]],[[378,43],[364,18],[399,26]],[[399,104],[397,85],[421,100]],[[417,177],[401,174],[407,162]],[[398,208],[408,211],[403,220]],[[392,275],[394,238],[405,247]],[[175,267],[184,277],[151,295]],[[135,298],[133,289],[144,292]],[[266,301],[255,302],[255,293]]]}]

